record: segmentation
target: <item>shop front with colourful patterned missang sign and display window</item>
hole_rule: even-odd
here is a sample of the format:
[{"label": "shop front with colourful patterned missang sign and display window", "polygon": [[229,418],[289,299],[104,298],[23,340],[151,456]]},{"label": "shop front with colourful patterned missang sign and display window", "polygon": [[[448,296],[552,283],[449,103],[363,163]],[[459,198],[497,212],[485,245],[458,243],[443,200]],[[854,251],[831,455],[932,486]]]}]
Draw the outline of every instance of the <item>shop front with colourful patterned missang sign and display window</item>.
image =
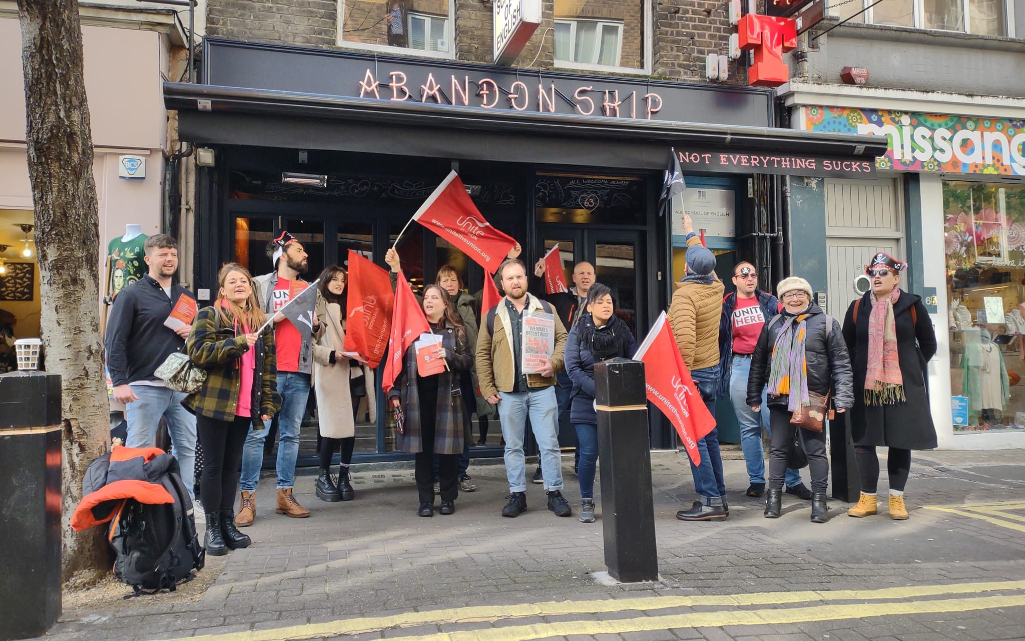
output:
[{"label": "shop front with colourful patterned missang sign and display window", "polygon": [[[799,108],[807,130],[866,133],[889,143],[876,166],[896,196],[894,228],[880,215],[886,207],[879,200],[866,197],[878,184],[843,192],[847,200],[838,205],[827,201],[827,225],[835,221],[830,211],[846,207],[851,218],[869,226],[860,251],[848,249],[830,261],[830,282],[835,277],[843,294],[833,313],[846,311],[856,295],[853,276],[874,251],[908,256],[911,273],[902,286],[922,296],[939,344],[929,387],[940,447],[1021,447],[1025,121],[1009,117],[1007,108],[979,115],[985,110],[968,101],[917,105],[918,111],[894,107]],[[826,191],[828,198],[828,185]],[[871,238],[876,229],[878,237]]]}]

